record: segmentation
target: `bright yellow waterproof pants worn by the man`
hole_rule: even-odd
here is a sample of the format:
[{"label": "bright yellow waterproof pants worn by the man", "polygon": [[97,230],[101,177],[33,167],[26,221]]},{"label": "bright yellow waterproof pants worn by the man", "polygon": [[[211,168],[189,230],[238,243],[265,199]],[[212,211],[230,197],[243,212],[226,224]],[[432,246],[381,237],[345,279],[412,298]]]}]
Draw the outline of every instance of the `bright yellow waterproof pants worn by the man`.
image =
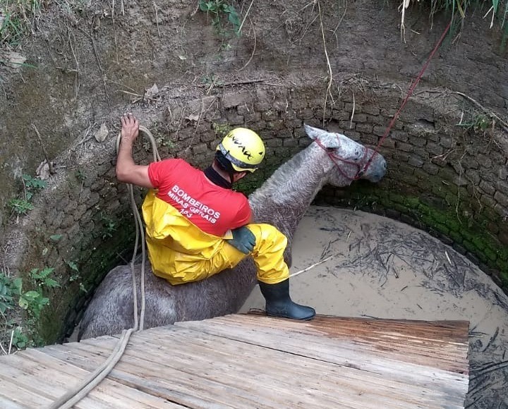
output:
[{"label": "bright yellow waterproof pants worn by the man", "polygon": [[[143,218],[152,270],[173,285],[206,279],[249,256],[224,238],[201,231],[171,204],[156,197],[154,190],[143,202]],[[258,280],[267,284],[286,280],[286,236],[270,224],[248,224],[247,228],[256,239],[250,256],[256,264]]]}]

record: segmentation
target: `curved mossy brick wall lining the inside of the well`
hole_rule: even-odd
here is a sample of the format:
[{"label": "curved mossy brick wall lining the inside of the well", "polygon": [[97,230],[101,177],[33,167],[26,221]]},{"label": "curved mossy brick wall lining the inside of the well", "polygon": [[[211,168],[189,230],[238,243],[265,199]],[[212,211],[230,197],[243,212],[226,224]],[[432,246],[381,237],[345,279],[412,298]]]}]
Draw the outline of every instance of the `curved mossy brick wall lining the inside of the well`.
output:
[{"label": "curved mossy brick wall lining the inside of the well", "polygon": [[[210,164],[229,128],[256,130],[267,146],[267,159],[238,186],[249,193],[310,143],[303,123],[377,145],[401,103],[397,86],[366,78],[349,81],[332,92],[326,109],[326,84],[248,84],[198,98],[182,92],[157,107],[143,125],[154,133],[162,157],[181,157],[200,168]],[[508,154],[502,145],[507,135],[496,126],[478,128],[480,115],[458,94],[421,88],[379,148],[388,162],[385,178],[377,184],[325,187],[316,202],[356,207],[419,226],[508,288]],[[457,126],[460,121],[466,126]],[[132,212],[126,188],[114,177],[116,135],[114,130],[103,143],[90,141],[85,154],[68,152],[74,155],[75,167],[49,181],[36,209],[11,224],[12,243],[19,243],[10,250],[11,270],[55,267],[62,284],[52,290],[51,308],[41,322],[48,342],[71,333],[104,274],[131,257]],[[138,163],[151,160],[149,148],[145,140],[136,143]],[[139,205],[144,192],[135,192]],[[54,235],[61,238],[55,242],[50,238]],[[78,276],[68,262],[75,263]]]}]

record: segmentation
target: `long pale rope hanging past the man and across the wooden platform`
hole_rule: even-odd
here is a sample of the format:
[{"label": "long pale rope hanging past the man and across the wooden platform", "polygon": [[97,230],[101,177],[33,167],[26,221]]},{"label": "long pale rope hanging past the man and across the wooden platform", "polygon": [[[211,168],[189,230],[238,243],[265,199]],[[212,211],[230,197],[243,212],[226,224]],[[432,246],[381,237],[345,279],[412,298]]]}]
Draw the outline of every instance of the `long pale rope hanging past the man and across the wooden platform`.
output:
[{"label": "long pale rope hanging past the man and across the wooden platform", "polygon": [[[155,143],[155,139],[148,130],[144,126],[139,127],[140,135],[145,136],[150,142],[152,147],[153,161],[160,161],[161,158],[159,156],[159,152],[157,150],[157,145]],[[116,154],[119,152],[121,140],[121,133],[119,133],[118,137],[116,137]],[[51,405],[47,407],[47,409],[69,409],[72,408],[73,405],[78,403],[81,399],[87,396],[87,393],[95,388],[114,368],[117,362],[119,362],[123,352],[126,349],[129,338],[131,338],[131,334],[135,331],[140,331],[143,329],[144,321],[145,321],[145,261],[146,261],[146,251],[145,251],[145,229],[143,228],[143,221],[141,219],[140,212],[138,207],[136,206],[134,200],[134,189],[131,183],[127,183],[127,190],[129,200],[131,201],[131,209],[133,211],[134,223],[135,223],[135,231],[136,237],[134,242],[134,250],[133,257],[131,260],[131,276],[133,280],[133,311],[134,311],[134,325],[130,329],[124,329],[119,338],[119,341],[116,343],[114,350],[111,352],[111,355],[107,358],[107,360],[97,368],[94,372],[92,372],[86,379],[80,382],[75,388],[68,391],[63,396],[54,401]],[[138,291],[135,277],[135,259],[138,253],[138,244],[141,238],[141,308],[140,315],[138,319]]]}]

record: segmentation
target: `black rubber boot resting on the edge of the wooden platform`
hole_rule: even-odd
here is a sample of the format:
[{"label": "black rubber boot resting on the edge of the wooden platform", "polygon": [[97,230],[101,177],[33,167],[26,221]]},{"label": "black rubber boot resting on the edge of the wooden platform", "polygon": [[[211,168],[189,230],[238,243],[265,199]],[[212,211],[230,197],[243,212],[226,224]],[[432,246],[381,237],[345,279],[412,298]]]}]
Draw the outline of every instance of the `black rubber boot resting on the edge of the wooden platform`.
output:
[{"label": "black rubber boot resting on the edge of the wooden platform", "polygon": [[289,297],[289,279],[277,284],[267,284],[258,281],[261,293],[266,300],[266,312],[271,317],[291,319],[313,319],[315,310],[294,303]]}]

